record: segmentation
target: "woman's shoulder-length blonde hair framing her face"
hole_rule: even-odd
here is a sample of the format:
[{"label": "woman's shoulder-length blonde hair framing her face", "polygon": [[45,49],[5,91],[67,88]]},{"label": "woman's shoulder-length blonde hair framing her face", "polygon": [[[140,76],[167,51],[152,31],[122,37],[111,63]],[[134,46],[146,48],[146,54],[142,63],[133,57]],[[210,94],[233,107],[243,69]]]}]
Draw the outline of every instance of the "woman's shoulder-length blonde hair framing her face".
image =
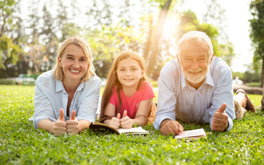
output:
[{"label": "woman's shoulder-length blonde hair framing her face", "polygon": [[63,41],[63,43],[59,47],[56,65],[54,66],[53,76],[57,80],[61,80],[61,81],[63,80],[64,73],[63,73],[63,69],[59,66],[59,58],[58,57],[61,58],[65,48],[68,47],[68,45],[71,45],[71,44],[81,47],[81,49],[83,50],[86,58],[88,59],[88,69],[87,69],[86,73],[83,75],[83,77],[81,78],[81,83],[83,83],[86,80],[89,80],[90,76],[94,75],[95,73],[94,73],[94,65],[92,65],[92,52],[91,52],[91,49],[90,49],[88,43],[84,39],[79,37],[79,36],[71,36],[71,37],[69,37],[68,39]]}]

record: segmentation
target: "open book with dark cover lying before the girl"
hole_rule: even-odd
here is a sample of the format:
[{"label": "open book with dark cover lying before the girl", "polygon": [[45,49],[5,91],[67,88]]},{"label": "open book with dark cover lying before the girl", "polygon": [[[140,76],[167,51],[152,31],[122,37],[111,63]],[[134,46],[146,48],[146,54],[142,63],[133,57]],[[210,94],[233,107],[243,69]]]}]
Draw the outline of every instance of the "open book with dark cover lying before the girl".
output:
[{"label": "open book with dark cover lying before the girl", "polygon": [[150,133],[149,131],[146,131],[145,129],[142,129],[141,126],[139,127],[132,127],[131,129],[114,129],[112,126],[109,126],[108,124],[103,124],[101,122],[92,122],[89,126],[89,129],[100,129],[103,131],[109,131],[111,133],[125,133],[125,135],[145,135]]}]

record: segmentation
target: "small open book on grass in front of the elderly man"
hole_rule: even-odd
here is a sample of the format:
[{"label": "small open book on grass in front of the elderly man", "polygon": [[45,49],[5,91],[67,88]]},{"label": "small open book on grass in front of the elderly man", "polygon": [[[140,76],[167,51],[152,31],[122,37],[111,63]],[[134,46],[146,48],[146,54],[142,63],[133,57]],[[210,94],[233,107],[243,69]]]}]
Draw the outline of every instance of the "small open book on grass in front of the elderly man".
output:
[{"label": "small open book on grass in front of the elderly man", "polygon": [[203,129],[194,129],[190,131],[183,131],[182,133],[175,135],[174,138],[176,140],[184,139],[184,140],[192,141],[192,140],[197,140],[205,136],[206,136],[206,133]]}]

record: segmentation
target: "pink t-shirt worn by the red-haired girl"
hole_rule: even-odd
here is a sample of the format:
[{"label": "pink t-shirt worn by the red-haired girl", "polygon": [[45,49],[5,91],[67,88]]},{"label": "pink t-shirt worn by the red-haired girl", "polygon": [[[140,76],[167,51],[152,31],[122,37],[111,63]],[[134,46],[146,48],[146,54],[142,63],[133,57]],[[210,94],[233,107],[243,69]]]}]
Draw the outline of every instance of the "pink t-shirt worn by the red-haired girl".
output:
[{"label": "pink t-shirt worn by the red-haired girl", "polygon": [[[113,94],[110,99],[110,103],[116,106],[116,112],[119,107],[119,96],[117,96],[116,92],[117,86],[113,89]],[[122,100],[122,106],[120,110],[121,118],[123,116],[123,111],[127,110],[128,117],[134,119],[136,116],[136,111],[139,108],[139,103],[143,100],[148,100],[150,98],[154,98],[155,94],[152,90],[152,87],[148,81],[144,82],[139,90],[133,96],[125,96],[123,90],[120,90],[120,97]]]}]

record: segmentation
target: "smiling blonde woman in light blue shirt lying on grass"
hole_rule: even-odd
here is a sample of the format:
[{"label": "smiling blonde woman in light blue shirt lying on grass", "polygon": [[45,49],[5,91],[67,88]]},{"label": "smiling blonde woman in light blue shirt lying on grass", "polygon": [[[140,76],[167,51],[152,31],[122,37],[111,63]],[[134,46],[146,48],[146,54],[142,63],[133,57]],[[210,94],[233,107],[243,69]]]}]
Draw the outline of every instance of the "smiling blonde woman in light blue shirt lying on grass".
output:
[{"label": "smiling blonde woman in light blue shirt lying on grass", "polygon": [[95,120],[101,80],[94,73],[88,43],[63,41],[54,69],[36,80],[33,124],[55,136],[77,134]]}]

